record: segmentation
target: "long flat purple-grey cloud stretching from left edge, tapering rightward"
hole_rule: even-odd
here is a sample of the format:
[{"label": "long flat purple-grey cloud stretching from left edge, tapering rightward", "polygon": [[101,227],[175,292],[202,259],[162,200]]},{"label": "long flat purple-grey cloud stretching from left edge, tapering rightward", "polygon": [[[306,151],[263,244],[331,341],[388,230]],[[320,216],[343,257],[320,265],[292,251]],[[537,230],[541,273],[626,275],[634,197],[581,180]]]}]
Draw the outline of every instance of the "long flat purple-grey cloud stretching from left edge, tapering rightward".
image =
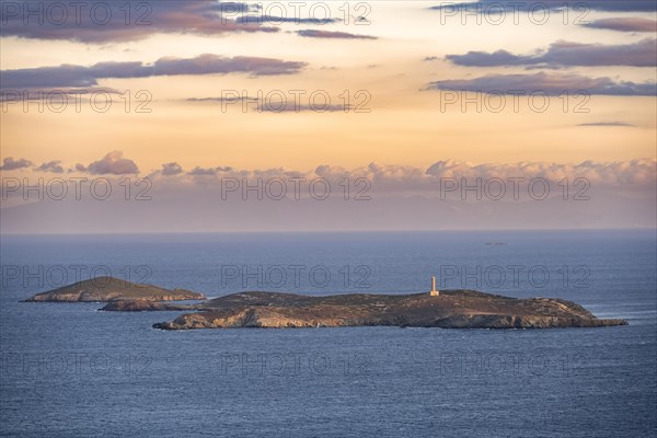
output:
[{"label": "long flat purple-grey cloud stretching from left edge, tapering rightward", "polygon": [[304,62],[283,61],[273,58],[237,56],[233,58],[205,54],[196,58],[164,57],[152,65],[143,62],[99,62],[91,67],[61,65],[18,70],[2,70],[2,89],[61,88],[96,85],[99,79],[148,78],[178,74],[252,76],[291,74],[299,72]]}]

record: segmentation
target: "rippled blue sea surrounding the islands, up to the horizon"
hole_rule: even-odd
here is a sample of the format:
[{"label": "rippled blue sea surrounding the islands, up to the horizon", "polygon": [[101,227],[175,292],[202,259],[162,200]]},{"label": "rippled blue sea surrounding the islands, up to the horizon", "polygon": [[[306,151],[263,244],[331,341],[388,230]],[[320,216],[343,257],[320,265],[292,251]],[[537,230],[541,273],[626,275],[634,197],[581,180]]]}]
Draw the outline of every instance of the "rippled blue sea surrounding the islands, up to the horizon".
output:
[{"label": "rippled blue sea surrounding the islands, up to the horizon", "polygon": [[[0,435],[655,437],[655,230],[2,237]],[[480,289],[629,326],[163,332],[24,303],[112,274],[217,297]]]}]

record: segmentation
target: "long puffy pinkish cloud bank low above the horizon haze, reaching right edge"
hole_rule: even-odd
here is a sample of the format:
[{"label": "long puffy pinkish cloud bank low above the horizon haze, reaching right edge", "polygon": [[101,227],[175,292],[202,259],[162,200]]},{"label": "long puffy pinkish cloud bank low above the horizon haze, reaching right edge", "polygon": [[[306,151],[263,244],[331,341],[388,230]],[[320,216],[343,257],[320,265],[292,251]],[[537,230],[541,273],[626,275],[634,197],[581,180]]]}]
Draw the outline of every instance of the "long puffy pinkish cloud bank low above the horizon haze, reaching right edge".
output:
[{"label": "long puffy pinkish cloud bank low above the horizon haze, reaching right edge", "polygon": [[[331,182],[332,186],[339,187],[339,183],[349,178],[354,184],[358,178],[367,178],[371,183],[368,192],[378,195],[411,194],[411,195],[436,195],[437,183],[440,178],[500,178],[511,177],[544,178],[558,183],[564,177],[574,181],[577,177],[587,178],[591,184],[606,187],[618,187],[622,185],[641,185],[654,191],[657,181],[657,160],[646,158],[632,161],[597,162],[584,161],[580,163],[554,163],[554,162],[516,162],[516,163],[481,163],[472,164],[456,160],[440,160],[426,168],[381,164],[371,162],[366,166],[345,169],[342,166],[323,164],[313,170],[300,171],[285,168],[265,170],[240,170],[230,166],[223,168],[195,168],[187,173],[180,173],[166,177],[171,187],[201,184],[204,187],[220,185],[222,178],[246,178],[253,183],[256,178],[290,178],[302,177],[307,182],[323,177]],[[161,174],[153,173],[153,178]],[[149,176],[149,177],[150,177]],[[204,178],[197,178],[203,176]],[[160,186],[160,184],[158,184]],[[556,186],[556,185],[555,185]]]}]

